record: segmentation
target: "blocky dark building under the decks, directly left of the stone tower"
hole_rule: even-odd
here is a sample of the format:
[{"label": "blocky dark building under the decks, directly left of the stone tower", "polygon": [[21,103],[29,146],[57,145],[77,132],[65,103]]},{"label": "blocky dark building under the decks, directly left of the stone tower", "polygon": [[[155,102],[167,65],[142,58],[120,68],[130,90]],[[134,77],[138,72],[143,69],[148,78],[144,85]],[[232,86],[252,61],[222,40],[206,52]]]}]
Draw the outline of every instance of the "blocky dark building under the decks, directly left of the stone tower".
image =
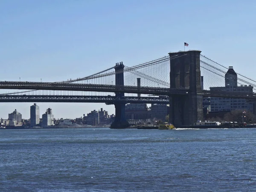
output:
[{"label": "blocky dark building under the decks, directly left of the stone tower", "polygon": [[152,104],[151,105],[151,117],[159,119],[163,122],[166,121],[168,115],[169,106],[166,104]]}]

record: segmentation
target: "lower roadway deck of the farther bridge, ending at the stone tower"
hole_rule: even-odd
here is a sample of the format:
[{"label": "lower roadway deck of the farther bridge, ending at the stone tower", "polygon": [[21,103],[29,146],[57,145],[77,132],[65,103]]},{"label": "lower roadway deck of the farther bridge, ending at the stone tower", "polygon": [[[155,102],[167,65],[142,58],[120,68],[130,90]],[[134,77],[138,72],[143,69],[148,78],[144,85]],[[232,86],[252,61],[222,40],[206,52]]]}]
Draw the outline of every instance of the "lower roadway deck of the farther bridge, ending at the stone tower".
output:
[{"label": "lower roadway deck of the farther bridge, ending at the stone tower", "polygon": [[57,96],[57,95],[0,95],[0,102],[77,102],[77,103],[158,103],[168,104],[168,97],[133,97],[116,96]]}]

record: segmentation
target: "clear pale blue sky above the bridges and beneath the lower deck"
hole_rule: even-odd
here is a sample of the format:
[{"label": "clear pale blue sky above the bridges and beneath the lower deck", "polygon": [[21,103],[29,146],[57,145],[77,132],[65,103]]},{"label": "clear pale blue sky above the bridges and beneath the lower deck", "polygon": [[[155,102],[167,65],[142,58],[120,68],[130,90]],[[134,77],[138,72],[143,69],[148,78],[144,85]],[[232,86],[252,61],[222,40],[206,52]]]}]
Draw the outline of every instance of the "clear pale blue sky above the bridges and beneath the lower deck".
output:
[{"label": "clear pale blue sky above the bridges and beneath the lower deck", "polygon": [[[1,81],[60,81],[150,61],[171,51],[202,54],[252,79],[256,1],[246,0],[1,0]],[[32,103],[0,103],[29,118]],[[56,118],[75,118],[104,104],[38,103]]]}]

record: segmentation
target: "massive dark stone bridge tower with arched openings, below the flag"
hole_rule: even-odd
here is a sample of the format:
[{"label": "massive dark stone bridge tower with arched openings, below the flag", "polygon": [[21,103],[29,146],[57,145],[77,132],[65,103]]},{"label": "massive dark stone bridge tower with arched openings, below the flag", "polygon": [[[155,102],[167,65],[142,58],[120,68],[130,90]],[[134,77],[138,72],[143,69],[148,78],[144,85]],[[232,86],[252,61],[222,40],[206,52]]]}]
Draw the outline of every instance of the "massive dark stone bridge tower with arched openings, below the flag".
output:
[{"label": "massive dark stone bridge tower with arched openings, below the flag", "polygon": [[169,122],[176,127],[203,120],[200,71],[201,51],[170,52],[170,88],[188,90],[185,96],[170,98]]}]

